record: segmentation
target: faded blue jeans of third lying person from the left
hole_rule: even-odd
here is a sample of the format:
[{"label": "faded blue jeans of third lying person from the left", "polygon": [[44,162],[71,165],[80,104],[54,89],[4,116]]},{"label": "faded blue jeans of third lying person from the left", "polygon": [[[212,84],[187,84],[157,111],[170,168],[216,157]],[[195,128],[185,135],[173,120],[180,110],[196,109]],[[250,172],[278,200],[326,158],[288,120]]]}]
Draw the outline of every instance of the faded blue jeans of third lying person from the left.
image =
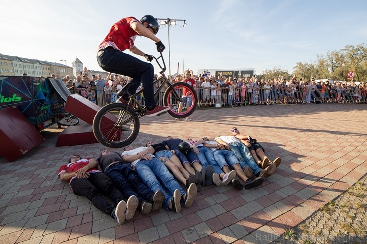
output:
[{"label": "faded blue jeans of third lying person from the left", "polygon": [[[135,165],[135,169],[145,185],[147,185],[153,192],[157,190],[161,190],[163,192],[165,195],[163,207],[167,210],[169,210],[168,203],[176,189],[179,189],[181,195],[185,194],[166,166],[157,158],[153,158],[152,160],[142,159]],[[160,182],[162,182],[166,191],[163,189]]]}]

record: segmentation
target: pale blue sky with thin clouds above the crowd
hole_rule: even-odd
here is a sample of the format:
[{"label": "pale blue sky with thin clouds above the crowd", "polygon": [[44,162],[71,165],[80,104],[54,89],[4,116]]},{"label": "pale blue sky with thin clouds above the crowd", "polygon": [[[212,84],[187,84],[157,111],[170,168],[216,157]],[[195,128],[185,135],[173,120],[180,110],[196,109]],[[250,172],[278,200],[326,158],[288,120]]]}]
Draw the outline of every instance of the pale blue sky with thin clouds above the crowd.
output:
[{"label": "pale blue sky with thin clouds above the crowd", "polygon": [[[187,22],[169,28],[170,42],[167,25],[157,34],[167,66],[170,46],[171,74],[177,67],[195,74],[246,68],[291,74],[297,62],[315,63],[317,55],[367,42],[366,0],[0,0],[0,6],[0,53],[61,64],[65,59],[67,66],[77,57],[90,70],[102,71],[96,50],[110,27],[145,14]],[[150,39],[137,37],[135,45],[158,56]]]}]

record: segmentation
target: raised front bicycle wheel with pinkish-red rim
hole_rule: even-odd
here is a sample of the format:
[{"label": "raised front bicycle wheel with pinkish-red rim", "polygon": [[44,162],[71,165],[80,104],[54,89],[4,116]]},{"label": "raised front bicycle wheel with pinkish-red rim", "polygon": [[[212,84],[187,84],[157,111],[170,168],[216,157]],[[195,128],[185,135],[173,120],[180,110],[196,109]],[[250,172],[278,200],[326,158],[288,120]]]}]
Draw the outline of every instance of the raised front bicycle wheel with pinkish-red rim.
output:
[{"label": "raised front bicycle wheel with pinkish-red rim", "polygon": [[[197,104],[197,95],[194,88],[185,82],[174,83],[172,87],[173,89],[171,87],[166,89],[163,95],[163,105],[170,107],[168,113],[172,117],[181,119],[190,116],[195,111]],[[185,102],[182,99],[183,92],[186,92],[186,94],[190,92],[192,95]]]}]

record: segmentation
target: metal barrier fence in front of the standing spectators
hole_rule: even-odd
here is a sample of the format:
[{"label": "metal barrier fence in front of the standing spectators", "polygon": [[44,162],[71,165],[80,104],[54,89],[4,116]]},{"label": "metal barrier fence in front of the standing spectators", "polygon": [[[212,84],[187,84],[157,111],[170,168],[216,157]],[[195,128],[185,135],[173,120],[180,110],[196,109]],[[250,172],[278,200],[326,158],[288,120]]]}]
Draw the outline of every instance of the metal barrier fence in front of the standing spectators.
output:
[{"label": "metal barrier fence in front of the standing spectators", "polygon": [[[70,91],[71,93],[83,94],[80,91]],[[219,93],[218,93],[219,92]],[[289,89],[253,89],[252,91],[241,88],[228,89],[222,88],[213,95],[210,89],[198,88],[197,106],[198,107],[220,107],[220,106],[247,106],[247,105],[275,105],[275,104],[306,104],[306,103],[367,103],[366,90],[347,89],[347,90],[289,90]],[[155,100],[163,105],[163,92],[159,92]],[[86,99],[104,106],[115,102],[116,93],[106,96],[104,92],[91,90]],[[137,98],[144,104],[144,97]]]}]

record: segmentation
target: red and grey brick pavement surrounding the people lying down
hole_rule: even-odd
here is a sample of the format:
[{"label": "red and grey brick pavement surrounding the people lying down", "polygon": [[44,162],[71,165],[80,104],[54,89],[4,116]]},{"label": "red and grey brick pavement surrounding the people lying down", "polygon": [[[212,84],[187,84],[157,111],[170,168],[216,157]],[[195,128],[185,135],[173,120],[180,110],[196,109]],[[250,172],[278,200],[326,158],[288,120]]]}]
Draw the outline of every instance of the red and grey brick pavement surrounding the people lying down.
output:
[{"label": "red and grey brick pavement surrounding the people lying down", "polygon": [[259,188],[206,187],[179,214],[137,213],[117,225],[56,175],[71,155],[97,157],[104,147],[55,147],[62,129],[53,127],[22,158],[0,158],[0,243],[270,243],[367,172],[367,105],[247,106],[200,110],[191,118],[142,118],[134,145],[167,135],[213,138],[236,126],[270,158],[281,156],[281,166]]}]

